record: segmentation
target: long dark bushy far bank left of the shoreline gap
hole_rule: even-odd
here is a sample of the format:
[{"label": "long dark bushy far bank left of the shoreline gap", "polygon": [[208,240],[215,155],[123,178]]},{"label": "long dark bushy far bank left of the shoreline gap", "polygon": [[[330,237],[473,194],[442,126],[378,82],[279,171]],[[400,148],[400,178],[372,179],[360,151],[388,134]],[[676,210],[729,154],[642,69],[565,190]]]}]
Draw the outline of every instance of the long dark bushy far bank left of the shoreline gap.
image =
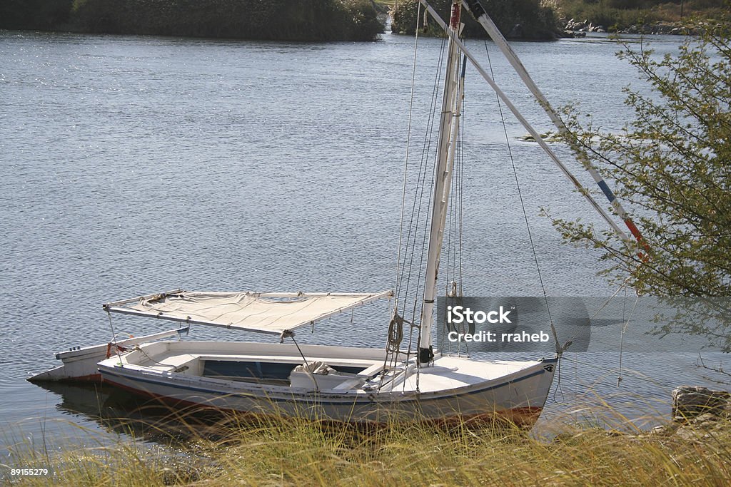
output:
[{"label": "long dark bushy far bank left of the shoreline gap", "polygon": [[10,0],[0,28],[286,41],[373,40],[371,0]]}]

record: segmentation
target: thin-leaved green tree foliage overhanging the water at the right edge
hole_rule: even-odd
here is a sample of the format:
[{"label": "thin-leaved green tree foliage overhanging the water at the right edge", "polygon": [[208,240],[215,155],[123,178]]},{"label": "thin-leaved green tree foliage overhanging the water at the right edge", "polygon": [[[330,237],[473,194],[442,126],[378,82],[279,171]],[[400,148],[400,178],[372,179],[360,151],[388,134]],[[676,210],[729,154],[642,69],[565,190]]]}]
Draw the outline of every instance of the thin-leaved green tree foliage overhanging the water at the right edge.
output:
[{"label": "thin-leaved green tree foliage overhanging the water at the right edge", "polygon": [[607,272],[629,275],[640,293],[711,305],[704,314],[715,325],[678,315],[658,331],[705,334],[731,351],[731,300],[718,299],[731,296],[731,23],[693,28],[700,37],[676,55],[658,58],[642,45],[619,53],[652,91],[626,88],[635,118],[618,133],[567,110],[569,142],[613,181],[649,250],[580,221],[554,223],[567,240],[600,248]]}]

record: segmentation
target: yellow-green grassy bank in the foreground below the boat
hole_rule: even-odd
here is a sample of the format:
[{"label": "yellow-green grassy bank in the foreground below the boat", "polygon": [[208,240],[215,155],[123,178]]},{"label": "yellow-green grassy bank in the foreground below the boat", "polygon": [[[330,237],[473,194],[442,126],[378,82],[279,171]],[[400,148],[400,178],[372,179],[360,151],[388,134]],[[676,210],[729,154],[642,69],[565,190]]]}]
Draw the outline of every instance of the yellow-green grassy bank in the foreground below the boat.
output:
[{"label": "yellow-green grassy bank in the foreground below the boat", "polygon": [[[515,429],[451,430],[391,425],[371,431],[304,421],[228,423],[189,452],[156,456],[135,445],[22,453],[12,467],[50,464],[53,483],[75,486],[725,486],[731,481],[729,424],[694,436],[635,434],[556,424],[533,437]],[[12,478],[48,485],[48,478]]]}]

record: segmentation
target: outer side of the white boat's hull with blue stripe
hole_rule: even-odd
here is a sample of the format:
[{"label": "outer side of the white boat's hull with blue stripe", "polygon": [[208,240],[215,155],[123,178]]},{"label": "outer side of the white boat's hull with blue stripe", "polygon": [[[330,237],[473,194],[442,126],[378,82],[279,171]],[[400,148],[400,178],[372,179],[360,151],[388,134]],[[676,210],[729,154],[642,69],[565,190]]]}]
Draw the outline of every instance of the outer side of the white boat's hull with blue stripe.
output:
[{"label": "outer side of the white boat's hull with blue stripe", "polygon": [[[354,349],[358,350],[358,349]],[[125,367],[111,358],[99,364],[106,383],[175,406],[195,406],[235,413],[297,416],[311,420],[346,423],[386,423],[395,420],[452,423],[508,421],[531,426],[537,420],[550,391],[556,358],[526,362],[510,374],[472,380],[457,387],[428,387],[449,381],[462,369],[480,362],[463,358],[437,358],[433,367],[420,372],[425,388],[412,384],[390,391],[314,391],[306,388],[262,386],[210,377],[164,372],[145,367]],[[491,365],[484,362],[485,367]],[[456,372],[455,372],[456,371]],[[415,380],[416,375],[410,378]]]}]

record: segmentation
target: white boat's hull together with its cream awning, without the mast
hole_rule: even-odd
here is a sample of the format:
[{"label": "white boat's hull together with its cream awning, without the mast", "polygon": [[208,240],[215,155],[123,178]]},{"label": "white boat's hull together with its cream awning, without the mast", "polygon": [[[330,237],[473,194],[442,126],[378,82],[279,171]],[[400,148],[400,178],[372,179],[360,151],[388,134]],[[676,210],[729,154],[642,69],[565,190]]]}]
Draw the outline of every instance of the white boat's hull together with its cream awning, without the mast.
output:
[{"label": "white boat's hull together with its cream awning, without the mast", "polygon": [[[379,294],[233,294],[173,291],[107,304],[156,316],[289,336]],[[216,321],[212,321],[215,317]],[[283,343],[162,341],[98,364],[106,383],[172,404],[330,421],[537,419],[556,358],[481,362],[434,356],[428,364],[375,348]]]}]

